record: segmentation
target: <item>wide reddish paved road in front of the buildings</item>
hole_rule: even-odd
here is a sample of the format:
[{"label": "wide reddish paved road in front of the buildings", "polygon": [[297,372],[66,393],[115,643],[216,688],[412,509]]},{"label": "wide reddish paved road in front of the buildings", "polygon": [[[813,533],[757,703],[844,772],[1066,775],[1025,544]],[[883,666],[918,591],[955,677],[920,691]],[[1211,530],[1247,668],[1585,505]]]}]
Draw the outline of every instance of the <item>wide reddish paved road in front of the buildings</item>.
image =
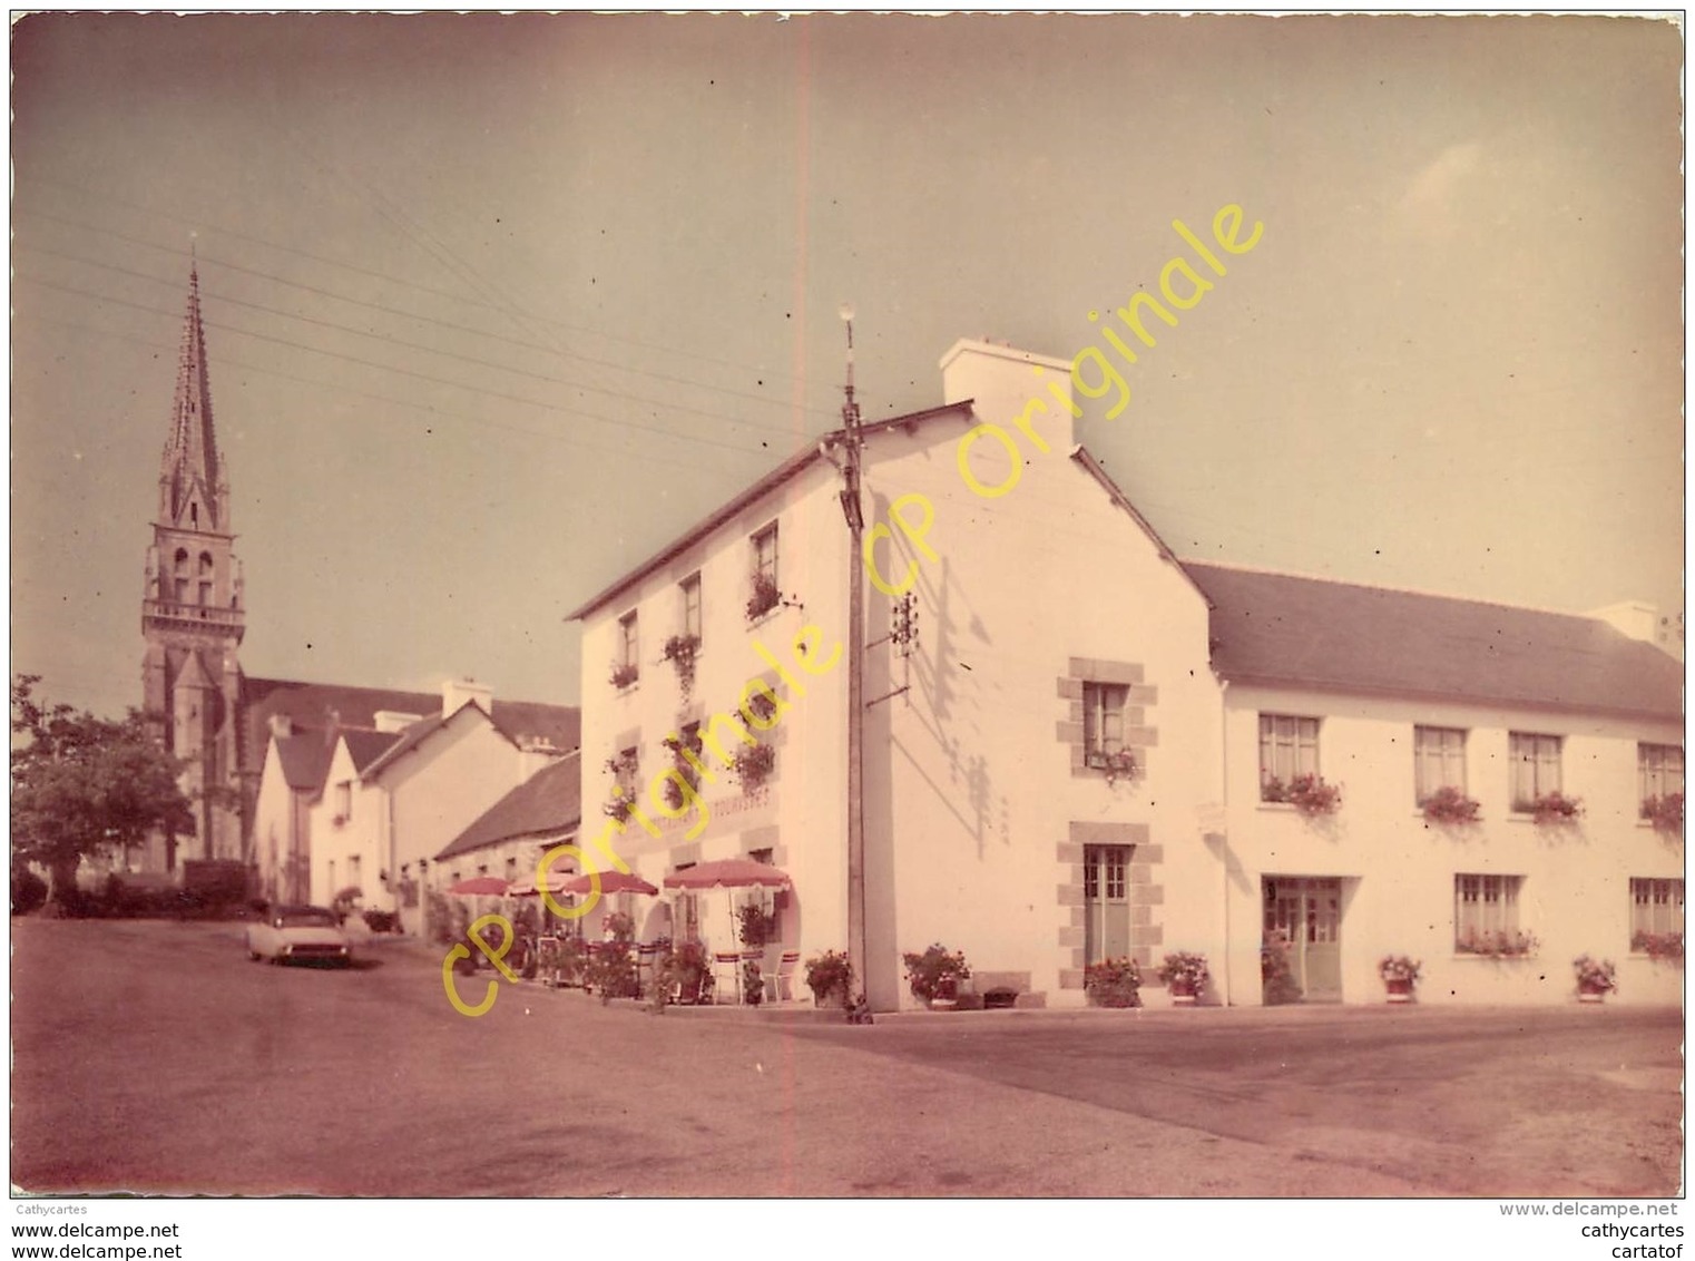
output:
[{"label": "wide reddish paved road in front of the buildings", "polygon": [[1681,1015],[602,1008],[14,920],[12,1180],[276,1195],[1670,1195]]}]

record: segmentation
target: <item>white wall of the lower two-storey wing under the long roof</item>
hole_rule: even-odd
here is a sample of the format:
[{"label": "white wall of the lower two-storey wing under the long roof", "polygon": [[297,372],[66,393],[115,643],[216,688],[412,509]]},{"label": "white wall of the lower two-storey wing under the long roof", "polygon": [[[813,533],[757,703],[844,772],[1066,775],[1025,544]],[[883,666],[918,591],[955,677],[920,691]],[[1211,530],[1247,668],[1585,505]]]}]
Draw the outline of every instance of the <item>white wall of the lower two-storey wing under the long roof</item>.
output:
[{"label": "white wall of the lower two-storey wing under the long roof", "polygon": [[[1342,998],[1381,1002],[1376,961],[1424,964],[1420,1002],[1549,1003],[1575,995],[1578,954],[1612,959],[1609,1002],[1678,1002],[1683,971],[1631,954],[1631,878],[1683,878],[1681,839],[1637,819],[1637,741],[1681,744],[1675,724],[1551,710],[1502,710],[1397,698],[1232,686],[1229,690],[1231,959],[1244,978],[1231,995],[1258,1003],[1261,878],[1346,876]],[[1341,810],[1322,820],[1259,802],[1259,714],[1320,717],[1319,764],[1341,783]],[[1427,825],[1415,805],[1414,725],[1468,730],[1466,792],[1481,822]],[[1539,827],[1510,812],[1507,736],[1564,736],[1563,792],[1583,800],[1575,827]],[[1519,922],[1541,947],[1529,959],[1454,951],[1454,876],[1517,875]]]}]

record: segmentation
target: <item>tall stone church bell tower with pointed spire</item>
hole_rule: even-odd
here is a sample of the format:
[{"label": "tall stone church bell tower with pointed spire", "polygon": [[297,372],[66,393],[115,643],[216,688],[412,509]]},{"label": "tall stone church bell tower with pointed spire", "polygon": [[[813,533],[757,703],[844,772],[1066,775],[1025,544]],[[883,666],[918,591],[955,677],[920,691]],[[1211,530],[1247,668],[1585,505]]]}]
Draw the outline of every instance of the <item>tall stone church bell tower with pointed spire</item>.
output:
[{"label": "tall stone church bell tower with pointed spire", "polygon": [[181,758],[195,836],[164,837],[149,866],[181,858],[241,859],[241,666],[246,629],[241,563],[231,529],[229,476],[217,453],[198,266],[188,269],[188,312],[176,361],[176,400],[159,461],[159,507],[147,547],[141,634],[142,692],[164,747]]}]

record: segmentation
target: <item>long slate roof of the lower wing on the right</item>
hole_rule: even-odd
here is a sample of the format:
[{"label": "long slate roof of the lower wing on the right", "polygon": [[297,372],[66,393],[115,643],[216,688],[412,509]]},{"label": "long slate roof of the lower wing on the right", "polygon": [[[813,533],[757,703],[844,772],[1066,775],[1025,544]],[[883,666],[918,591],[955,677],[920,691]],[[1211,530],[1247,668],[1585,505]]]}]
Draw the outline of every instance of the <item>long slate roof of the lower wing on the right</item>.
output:
[{"label": "long slate roof of the lower wing on the right", "polygon": [[1680,720],[1683,664],[1605,622],[1185,561],[1227,680]]}]

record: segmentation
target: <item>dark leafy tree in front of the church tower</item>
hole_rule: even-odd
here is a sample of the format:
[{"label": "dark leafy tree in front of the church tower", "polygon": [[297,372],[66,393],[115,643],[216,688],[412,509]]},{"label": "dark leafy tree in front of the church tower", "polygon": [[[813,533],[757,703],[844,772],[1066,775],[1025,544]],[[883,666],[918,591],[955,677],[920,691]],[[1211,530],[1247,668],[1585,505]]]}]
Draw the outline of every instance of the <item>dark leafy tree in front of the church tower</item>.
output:
[{"label": "dark leafy tree in front of the church tower", "polygon": [[51,898],[75,897],[83,858],[142,844],[154,830],[193,832],[178,786],[181,761],[159,747],[146,715],[122,722],[36,698],[39,675],[12,681],[12,854],[41,863]]}]

